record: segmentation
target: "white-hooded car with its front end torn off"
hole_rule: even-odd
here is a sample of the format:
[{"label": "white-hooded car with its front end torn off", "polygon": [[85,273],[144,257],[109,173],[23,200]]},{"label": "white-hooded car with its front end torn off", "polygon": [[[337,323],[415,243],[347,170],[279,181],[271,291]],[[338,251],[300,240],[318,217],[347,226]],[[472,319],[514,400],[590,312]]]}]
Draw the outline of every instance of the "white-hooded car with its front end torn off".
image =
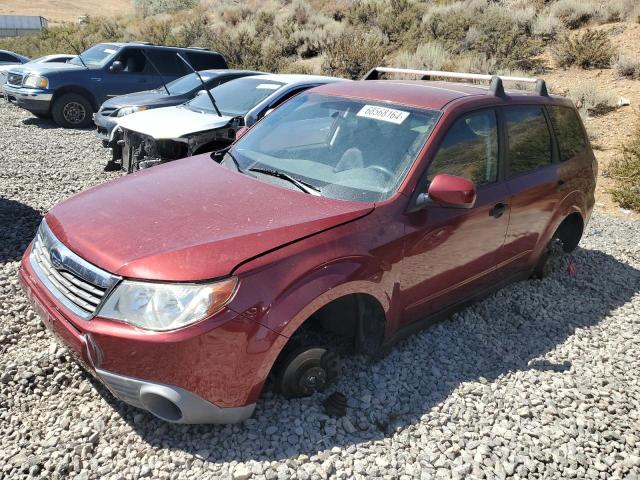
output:
[{"label": "white-hooded car with its front end torn off", "polygon": [[250,127],[294,95],[342,81],[347,80],[288,74],[245,77],[200,91],[177,107],[134,113],[119,122],[122,168],[134,172],[222,149],[233,142],[238,129]]}]

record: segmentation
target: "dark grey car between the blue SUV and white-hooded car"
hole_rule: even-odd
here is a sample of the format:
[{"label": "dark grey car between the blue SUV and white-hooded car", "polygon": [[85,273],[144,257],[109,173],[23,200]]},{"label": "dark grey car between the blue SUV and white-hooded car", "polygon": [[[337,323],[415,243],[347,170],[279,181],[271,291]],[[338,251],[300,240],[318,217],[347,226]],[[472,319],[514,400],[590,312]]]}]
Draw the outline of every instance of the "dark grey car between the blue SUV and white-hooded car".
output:
[{"label": "dark grey car between the blue SUV and white-hooded car", "polygon": [[102,104],[93,120],[102,145],[112,149],[113,161],[122,158],[122,146],[118,145],[121,136],[116,128],[122,117],[154,108],[182,105],[203,88],[214,88],[236,78],[261,74],[252,70],[229,69],[203,70],[198,73],[202,81],[198,75],[190,73],[154,90],[121,95]]}]

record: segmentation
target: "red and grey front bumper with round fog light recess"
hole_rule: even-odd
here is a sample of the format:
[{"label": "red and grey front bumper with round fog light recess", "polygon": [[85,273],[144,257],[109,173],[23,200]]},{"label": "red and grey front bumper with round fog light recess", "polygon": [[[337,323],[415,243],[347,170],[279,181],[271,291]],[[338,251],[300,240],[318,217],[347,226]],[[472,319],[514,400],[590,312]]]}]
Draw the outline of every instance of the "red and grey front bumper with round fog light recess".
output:
[{"label": "red and grey front bumper with round fog light recess", "polygon": [[117,398],[174,423],[235,423],[253,413],[286,339],[229,309],[173,332],[82,320],[43,288],[25,253],[20,281],[45,326]]}]

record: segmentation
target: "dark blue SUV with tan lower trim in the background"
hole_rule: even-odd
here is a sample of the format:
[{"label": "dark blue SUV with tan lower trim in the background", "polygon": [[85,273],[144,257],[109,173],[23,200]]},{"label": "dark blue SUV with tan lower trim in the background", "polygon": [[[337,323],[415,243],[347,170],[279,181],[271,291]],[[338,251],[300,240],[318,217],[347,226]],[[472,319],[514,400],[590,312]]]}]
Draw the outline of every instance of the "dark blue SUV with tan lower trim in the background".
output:
[{"label": "dark blue SUV with tan lower trim in the background", "polygon": [[65,64],[23,65],[8,72],[5,95],[39,116],[52,116],[65,128],[83,128],[105,100],[158,88],[191,70],[227,68],[217,52],[147,43],[100,43]]}]

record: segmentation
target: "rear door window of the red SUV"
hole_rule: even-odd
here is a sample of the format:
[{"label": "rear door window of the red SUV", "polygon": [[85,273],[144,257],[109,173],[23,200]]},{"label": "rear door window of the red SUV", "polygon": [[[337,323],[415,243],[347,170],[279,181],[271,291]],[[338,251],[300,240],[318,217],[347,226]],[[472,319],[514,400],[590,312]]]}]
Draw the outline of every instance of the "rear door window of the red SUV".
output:
[{"label": "rear door window of the red SUV", "polygon": [[541,107],[504,109],[509,150],[509,176],[551,163],[551,134]]}]

